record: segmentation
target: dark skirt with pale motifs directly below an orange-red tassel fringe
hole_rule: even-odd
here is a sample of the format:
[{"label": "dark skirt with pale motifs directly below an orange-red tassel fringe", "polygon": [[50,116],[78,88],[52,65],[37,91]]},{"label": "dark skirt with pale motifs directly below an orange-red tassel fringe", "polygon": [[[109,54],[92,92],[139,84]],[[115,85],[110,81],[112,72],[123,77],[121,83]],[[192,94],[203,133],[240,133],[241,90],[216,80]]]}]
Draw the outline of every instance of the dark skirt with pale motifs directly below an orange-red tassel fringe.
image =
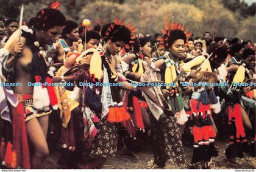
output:
[{"label": "dark skirt with pale motifs directly below an orange-red tassel fringe", "polygon": [[83,156],[85,160],[100,157],[113,156],[117,151],[118,129],[115,123],[107,121],[107,117],[100,122],[94,123],[98,130],[90,148],[83,146]]}]

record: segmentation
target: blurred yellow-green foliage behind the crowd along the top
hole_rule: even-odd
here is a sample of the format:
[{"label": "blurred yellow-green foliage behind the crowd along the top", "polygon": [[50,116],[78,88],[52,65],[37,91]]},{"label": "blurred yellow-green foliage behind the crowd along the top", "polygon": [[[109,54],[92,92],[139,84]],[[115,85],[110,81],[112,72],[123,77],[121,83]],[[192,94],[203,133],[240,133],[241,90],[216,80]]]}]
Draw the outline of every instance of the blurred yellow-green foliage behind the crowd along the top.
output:
[{"label": "blurred yellow-green foliage behind the crowd along the top", "polygon": [[[21,4],[24,19],[35,16],[38,10],[48,7],[52,0],[0,0],[0,15],[18,18]],[[54,0],[55,1],[55,0]],[[138,32],[161,32],[166,22],[178,21],[190,27],[194,36],[205,31],[214,36],[232,38],[241,36],[256,41],[256,3],[247,5],[240,0],[59,0],[67,19],[79,24],[87,18],[93,21],[126,19]],[[2,5],[4,4],[4,5]]]}]

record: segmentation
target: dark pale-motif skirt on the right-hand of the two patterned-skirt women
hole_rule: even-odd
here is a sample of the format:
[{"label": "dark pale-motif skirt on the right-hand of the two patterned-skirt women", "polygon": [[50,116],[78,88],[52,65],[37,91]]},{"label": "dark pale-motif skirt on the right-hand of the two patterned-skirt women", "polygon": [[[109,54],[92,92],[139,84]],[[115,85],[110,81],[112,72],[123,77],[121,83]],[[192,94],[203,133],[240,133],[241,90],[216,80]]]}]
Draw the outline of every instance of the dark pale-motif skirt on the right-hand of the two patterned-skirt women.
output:
[{"label": "dark pale-motif skirt on the right-hand of the two patterned-skirt women", "polygon": [[157,121],[150,115],[150,120],[154,162],[160,167],[164,167],[168,159],[175,165],[185,163],[181,131],[175,117],[166,116]]}]

